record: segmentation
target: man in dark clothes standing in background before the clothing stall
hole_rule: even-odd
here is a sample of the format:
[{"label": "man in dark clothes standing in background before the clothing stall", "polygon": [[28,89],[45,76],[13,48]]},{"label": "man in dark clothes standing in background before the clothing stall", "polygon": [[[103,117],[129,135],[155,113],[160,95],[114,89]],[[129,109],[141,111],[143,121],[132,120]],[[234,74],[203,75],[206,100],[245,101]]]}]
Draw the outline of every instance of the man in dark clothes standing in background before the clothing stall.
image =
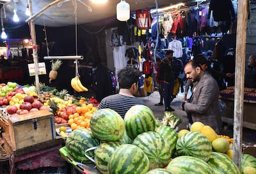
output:
[{"label": "man in dark clothes standing in background before the clothing stall", "polygon": [[165,111],[175,111],[171,106],[173,88],[175,84],[174,65],[173,65],[173,51],[166,51],[166,58],[161,62],[161,68],[159,70],[159,77],[163,79],[164,88],[164,106]]}]

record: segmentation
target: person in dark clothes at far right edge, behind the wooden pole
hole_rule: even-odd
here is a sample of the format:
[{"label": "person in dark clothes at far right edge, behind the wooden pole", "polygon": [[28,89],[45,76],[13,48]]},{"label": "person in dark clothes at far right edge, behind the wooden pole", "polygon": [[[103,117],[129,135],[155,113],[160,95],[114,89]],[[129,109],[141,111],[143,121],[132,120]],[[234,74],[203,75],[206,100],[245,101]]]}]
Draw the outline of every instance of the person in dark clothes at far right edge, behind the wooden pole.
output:
[{"label": "person in dark clothes at far right edge, behind the wooden pole", "polygon": [[256,55],[248,58],[248,70],[245,72],[244,87],[256,88]]}]

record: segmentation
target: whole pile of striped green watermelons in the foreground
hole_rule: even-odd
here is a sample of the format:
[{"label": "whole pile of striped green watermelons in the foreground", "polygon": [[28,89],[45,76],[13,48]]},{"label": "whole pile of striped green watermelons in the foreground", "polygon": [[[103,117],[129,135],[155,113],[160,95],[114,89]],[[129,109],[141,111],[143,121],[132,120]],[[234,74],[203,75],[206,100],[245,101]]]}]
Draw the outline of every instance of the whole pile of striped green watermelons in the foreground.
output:
[{"label": "whole pile of striped green watermelons in the foreground", "polygon": [[99,109],[90,127],[70,133],[66,148],[77,162],[94,162],[100,173],[256,173],[252,155],[243,155],[240,171],[228,155],[212,150],[204,134],[178,138],[172,128],[159,127],[147,106],[131,107],[124,120],[111,109]]}]

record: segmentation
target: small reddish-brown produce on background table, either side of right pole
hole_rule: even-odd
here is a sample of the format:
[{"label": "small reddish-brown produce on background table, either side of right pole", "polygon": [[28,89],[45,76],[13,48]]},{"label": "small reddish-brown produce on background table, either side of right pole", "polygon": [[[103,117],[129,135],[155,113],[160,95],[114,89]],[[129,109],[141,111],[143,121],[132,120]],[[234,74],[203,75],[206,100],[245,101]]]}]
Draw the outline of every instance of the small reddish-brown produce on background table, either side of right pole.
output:
[{"label": "small reddish-brown produce on background table, either side of right pole", "polygon": [[[235,93],[235,87],[227,87],[226,90],[221,90],[220,95],[222,97],[233,98]],[[256,100],[256,89],[255,88],[244,88],[244,100]]]}]

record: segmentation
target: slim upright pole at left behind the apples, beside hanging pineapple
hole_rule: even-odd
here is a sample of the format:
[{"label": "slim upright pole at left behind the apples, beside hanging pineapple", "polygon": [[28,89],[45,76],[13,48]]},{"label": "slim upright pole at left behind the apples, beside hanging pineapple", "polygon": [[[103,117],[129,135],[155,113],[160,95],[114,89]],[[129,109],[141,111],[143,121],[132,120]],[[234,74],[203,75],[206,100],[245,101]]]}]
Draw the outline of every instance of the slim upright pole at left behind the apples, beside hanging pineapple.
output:
[{"label": "slim upright pole at left behind the apples, beside hanging pineapple", "polygon": [[[29,0],[29,10],[30,16],[32,16],[32,0]],[[39,76],[38,76],[38,56],[37,56],[37,47],[36,47],[36,31],[35,31],[35,22],[33,19],[29,20],[29,28],[30,28],[30,36],[32,41],[32,49],[33,49],[33,61],[35,65],[35,83],[36,83],[36,91],[39,93]]]}]

